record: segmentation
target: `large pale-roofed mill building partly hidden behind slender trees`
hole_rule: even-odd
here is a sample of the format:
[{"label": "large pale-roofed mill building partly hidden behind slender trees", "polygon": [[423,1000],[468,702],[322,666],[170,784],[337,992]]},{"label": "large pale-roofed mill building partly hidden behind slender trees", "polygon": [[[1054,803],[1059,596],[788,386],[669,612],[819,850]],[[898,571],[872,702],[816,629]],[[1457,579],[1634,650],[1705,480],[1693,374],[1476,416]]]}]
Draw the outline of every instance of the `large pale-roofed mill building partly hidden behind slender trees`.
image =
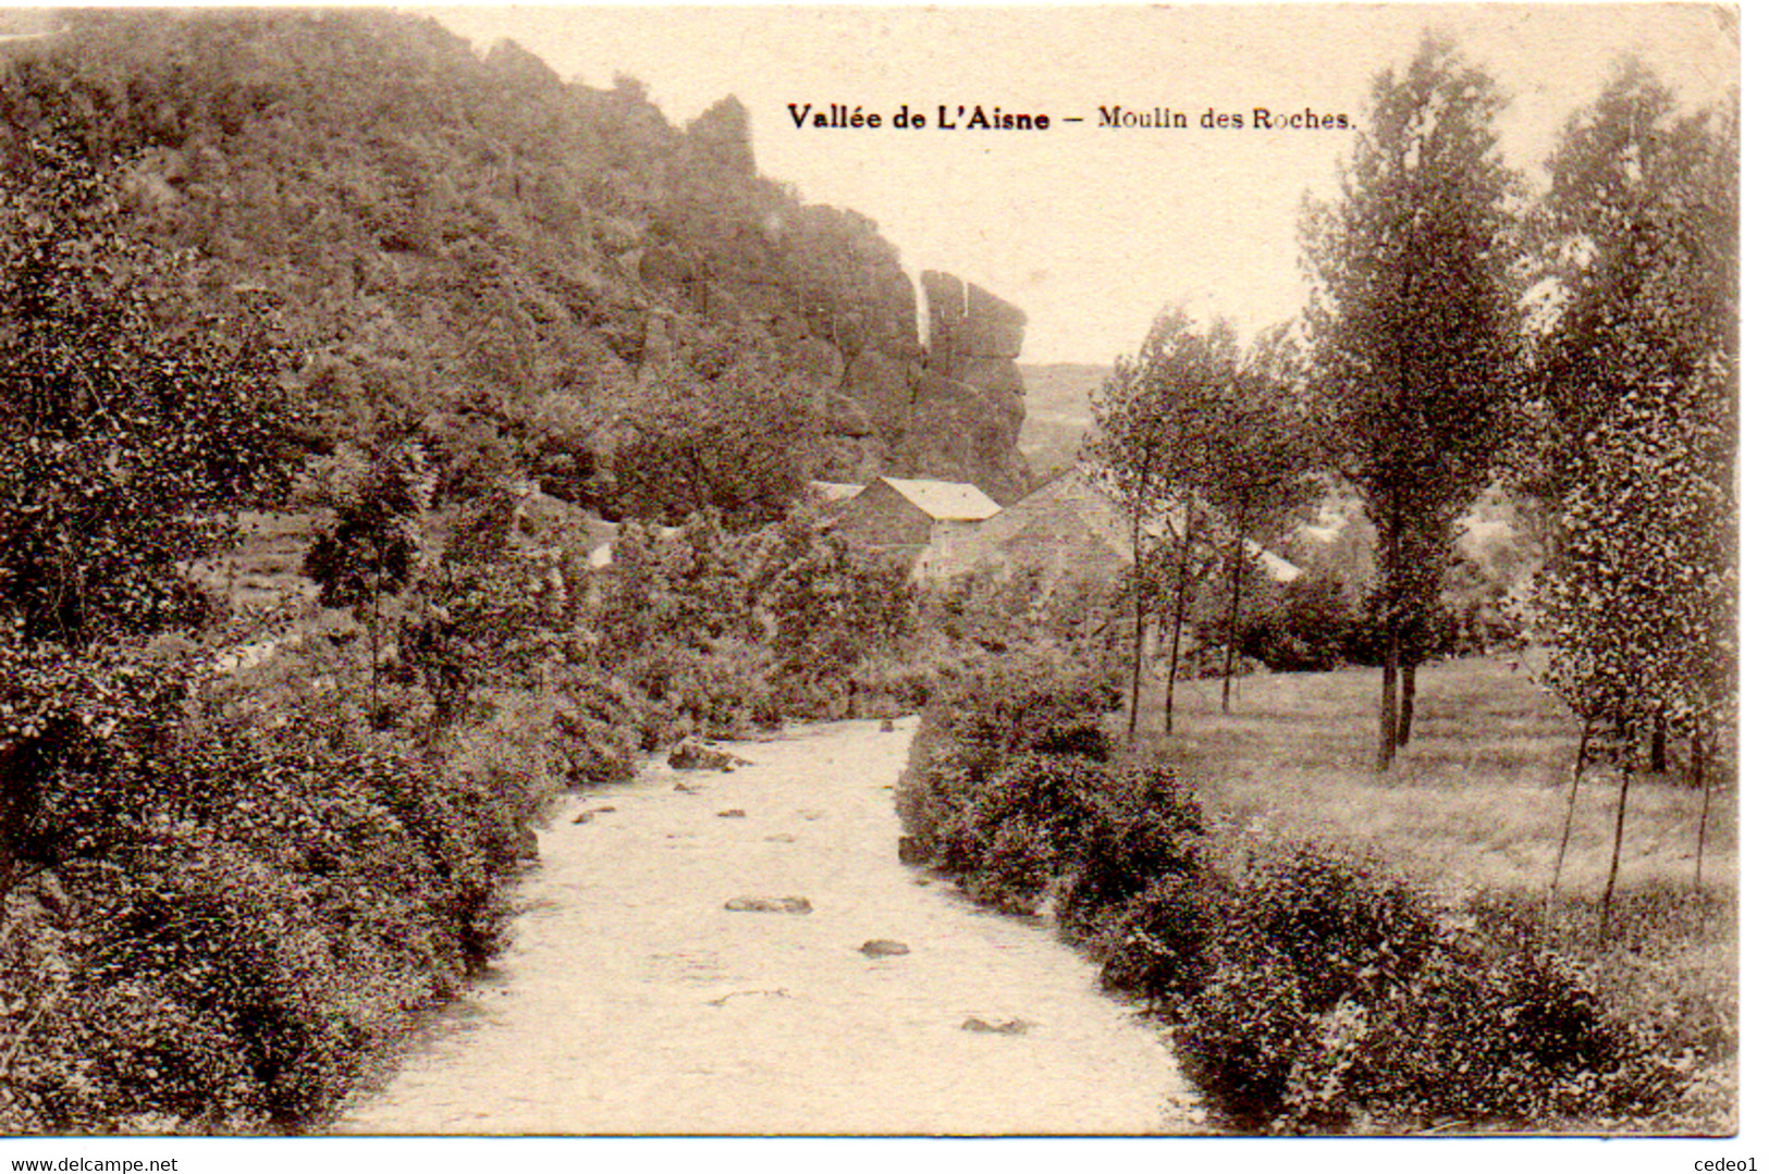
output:
[{"label": "large pale-roofed mill building partly hidden behind slender trees", "polygon": [[[1185,507],[1146,518],[1145,541],[1185,532]],[[1288,583],[1302,575],[1293,562],[1247,541],[1265,576]],[[1079,469],[1054,477],[1007,509],[955,536],[946,576],[1012,575],[1035,568],[1047,583],[1114,580],[1132,560],[1130,520]]]}]

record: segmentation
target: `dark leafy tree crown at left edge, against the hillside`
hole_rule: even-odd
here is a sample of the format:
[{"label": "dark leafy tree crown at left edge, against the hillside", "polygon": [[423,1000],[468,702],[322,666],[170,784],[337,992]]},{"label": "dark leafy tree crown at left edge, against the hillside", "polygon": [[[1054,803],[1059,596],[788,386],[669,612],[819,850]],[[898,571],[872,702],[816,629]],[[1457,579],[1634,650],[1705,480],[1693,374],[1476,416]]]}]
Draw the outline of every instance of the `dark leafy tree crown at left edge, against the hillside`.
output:
[{"label": "dark leafy tree crown at left edge, against the hillside", "polygon": [[182,566],[290,470],[290,366],[264,308],[120,232],[115,175],[53,138],[0,173],[0,592],[83,647],[202,610]]}]

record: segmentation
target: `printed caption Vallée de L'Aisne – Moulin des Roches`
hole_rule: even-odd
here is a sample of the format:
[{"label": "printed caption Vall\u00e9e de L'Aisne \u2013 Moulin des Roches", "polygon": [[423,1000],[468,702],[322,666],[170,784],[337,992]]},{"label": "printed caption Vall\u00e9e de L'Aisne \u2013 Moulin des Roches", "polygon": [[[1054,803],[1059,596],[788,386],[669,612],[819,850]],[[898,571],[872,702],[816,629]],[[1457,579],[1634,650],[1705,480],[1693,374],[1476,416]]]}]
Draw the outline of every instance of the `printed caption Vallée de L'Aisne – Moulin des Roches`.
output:
[{"label": "printed caption Vall\u00e9e de L'Aisne \u2013 Moulin des Roches", "polygon": [[[911,111],[907,104],[895,113],[884,115],[865,106],[847,106],[830,103],[814,106],[812,103],[787,103],[787,115],[794,127],[810,131],[879,131],[886,126],[893,131],[1049,131],[1053,122],[1093,122],[1091,118],[1065,117],[1053,120],[1047,113],[1014,113],[999,106],[946,106],[939,104],[932,115]],[[1219,111],[1208,108],[1191,117],[1182,110],[1160,106],[1155,110],[1125,110],[1123,106],[1100,106],[1099,127],[1109,129],[1178,129],[1191,126],[1199,129],[1254,129],[1254,131],[1348,131],[1348,115],[1318,113],[1302,110],[1297,113],[1272,111],[1256,106],[1247,113]]]}]

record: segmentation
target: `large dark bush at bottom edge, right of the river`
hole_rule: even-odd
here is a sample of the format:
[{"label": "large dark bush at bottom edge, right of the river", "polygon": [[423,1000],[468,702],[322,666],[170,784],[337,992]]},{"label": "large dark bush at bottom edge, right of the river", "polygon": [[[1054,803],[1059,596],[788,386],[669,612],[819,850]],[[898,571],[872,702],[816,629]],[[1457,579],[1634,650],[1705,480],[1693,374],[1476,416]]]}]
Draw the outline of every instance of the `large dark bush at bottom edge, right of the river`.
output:
[{"label": "large dark bush at bottom edge, right of the river", "polygon": [[1226,896],[1175,1043],[1242,1126],[1544,1126],[1663,1091],[1580,967],[1481,953],[1369,865],[1304,845]]}]

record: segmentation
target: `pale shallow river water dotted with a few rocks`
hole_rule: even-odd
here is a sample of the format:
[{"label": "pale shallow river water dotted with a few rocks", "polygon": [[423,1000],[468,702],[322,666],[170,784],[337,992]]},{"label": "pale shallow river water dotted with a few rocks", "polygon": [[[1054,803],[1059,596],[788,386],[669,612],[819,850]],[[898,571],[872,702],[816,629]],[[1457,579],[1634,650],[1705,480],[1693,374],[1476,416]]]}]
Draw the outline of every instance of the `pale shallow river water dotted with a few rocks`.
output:
[{"label": "pale shallow river water dotted with a few rocks", "polygon": [[[789,730],[732,746],[754,762],[738,771],[651,767],[566,799],[499,971],[336,1130],[1194,1128],[1157,1031],[1099,994],[1091,965],[897,863],[892,785],[913,728]],[[734,896],[812,911],[727,911]],[[870,939],[909,953],[869,958]]]}]

